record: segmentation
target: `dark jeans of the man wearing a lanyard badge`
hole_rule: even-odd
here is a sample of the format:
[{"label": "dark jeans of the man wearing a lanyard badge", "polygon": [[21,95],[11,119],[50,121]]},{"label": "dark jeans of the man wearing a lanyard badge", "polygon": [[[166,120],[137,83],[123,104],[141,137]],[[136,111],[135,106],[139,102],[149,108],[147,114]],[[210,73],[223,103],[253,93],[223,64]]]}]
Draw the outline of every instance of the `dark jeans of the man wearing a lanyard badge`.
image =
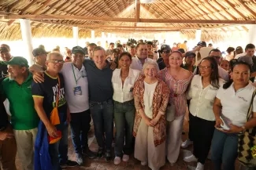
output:
[{"label": "dark jeans of the man wearing a lanyard badge", "polygon": [[90,110],[80,113],[72,113],[70,127],[72,132],[72,143],[76,154],[82,154],[82,150],[88,148],[88,132],[90,130]]}]

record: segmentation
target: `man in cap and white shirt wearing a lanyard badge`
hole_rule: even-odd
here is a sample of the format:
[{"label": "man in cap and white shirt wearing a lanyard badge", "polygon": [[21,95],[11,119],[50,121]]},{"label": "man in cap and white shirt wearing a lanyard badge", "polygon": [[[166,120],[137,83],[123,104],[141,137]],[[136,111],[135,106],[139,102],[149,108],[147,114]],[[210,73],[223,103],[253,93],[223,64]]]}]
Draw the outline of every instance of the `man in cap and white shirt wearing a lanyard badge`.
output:
[{"label": "man in cap and white shirt wearing a lanyard badge", "polygon": [[76,151],[76,161],[79,165],[83,164],[82,154],[89,158],[96,157],[89,150],[87,143],[91,114],[87,72],[83,66],[84,55],[85,52],[82,47],[73,47],[72,63],[64,63],[61,70],[65,81],[65,99],[71,113],[72,142]]}]

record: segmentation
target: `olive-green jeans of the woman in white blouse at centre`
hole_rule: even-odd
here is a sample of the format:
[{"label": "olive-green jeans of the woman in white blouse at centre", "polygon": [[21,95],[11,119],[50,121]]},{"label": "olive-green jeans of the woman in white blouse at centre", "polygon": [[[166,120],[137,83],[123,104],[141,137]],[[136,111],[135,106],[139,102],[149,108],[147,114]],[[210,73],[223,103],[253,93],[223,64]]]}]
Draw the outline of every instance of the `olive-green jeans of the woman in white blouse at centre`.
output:
[{"label": "olive-green jeans of the woman in white blouse at centre", "polygon": [[[116,125],[115,154],[122,157],[124,154],[132,154],[132,131],[135,118],[134,100],[119,103],[114,101],[114,120]],[[125,146],[124,146],[125,139]]]}]

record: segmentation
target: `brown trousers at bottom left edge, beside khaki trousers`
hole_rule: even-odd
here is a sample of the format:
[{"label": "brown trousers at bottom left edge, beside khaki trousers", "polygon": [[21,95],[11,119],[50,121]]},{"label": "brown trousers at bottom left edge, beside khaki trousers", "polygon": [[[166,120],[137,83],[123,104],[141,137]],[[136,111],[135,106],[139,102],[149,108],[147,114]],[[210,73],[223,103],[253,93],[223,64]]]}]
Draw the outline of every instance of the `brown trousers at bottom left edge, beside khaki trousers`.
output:
[{"label": "brown trousers at bottom left edge, beside khaki trousers", "polygon": [[[9,125],[6,130],[2,132],[13,132]],[[0,165],[3,170],[17,170],[15,165],[15,157],[17,153],[17,146],[15,138],[0,140]],[[1,166],[0,166],[1,169]]]}]

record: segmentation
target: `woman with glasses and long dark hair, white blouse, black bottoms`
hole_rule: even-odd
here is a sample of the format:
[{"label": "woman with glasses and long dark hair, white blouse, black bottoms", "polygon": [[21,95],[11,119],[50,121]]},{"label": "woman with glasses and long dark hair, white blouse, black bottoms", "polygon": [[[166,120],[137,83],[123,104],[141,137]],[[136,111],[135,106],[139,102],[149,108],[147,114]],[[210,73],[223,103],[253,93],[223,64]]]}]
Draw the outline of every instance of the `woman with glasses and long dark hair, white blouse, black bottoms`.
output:
[{"label": "woman with glasses and long dark hair, white blouse, black bottoms", "polygon": [[204,169],[215,129],[213,101],[217,90],[224,83],[219,78],[217,67],[217,61],[213,57],[204,58],[198,65],[200,73],[192,79],[187,93],[187,99],[191,99],[189,131],[194,141],[194,150],[191,156],[184,157],[184,161],[198,161],[196,170]]}]

